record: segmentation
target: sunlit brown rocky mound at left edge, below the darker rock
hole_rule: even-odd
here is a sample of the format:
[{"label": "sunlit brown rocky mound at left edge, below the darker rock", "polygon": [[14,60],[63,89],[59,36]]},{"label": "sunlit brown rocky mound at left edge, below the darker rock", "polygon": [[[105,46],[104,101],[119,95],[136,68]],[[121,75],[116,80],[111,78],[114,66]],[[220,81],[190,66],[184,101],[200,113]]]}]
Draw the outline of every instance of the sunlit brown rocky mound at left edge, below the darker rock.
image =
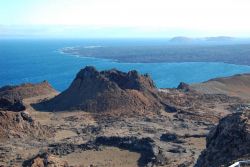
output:
[{"label": "sunlit brown rocky mound at left edge, below the darker rock", "polygon": [[26,112],[0,111],[0,140],[13,137],[42,139],[52,137],[52,133]]}]

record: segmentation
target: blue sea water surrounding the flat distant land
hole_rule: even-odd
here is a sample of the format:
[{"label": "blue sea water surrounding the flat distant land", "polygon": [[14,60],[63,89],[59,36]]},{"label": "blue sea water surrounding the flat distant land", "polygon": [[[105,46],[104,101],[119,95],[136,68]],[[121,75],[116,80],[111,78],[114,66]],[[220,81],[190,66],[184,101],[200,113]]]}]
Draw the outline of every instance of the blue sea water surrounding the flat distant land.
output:
[{"label": "blue sea water surrounding the flat distant land", "polygon": [[[164,41],[154,41],[153,44]],[[0,86],[24,82],[48,80],[52,86],[65,90],[76,73],[86,65],[98,70],[117,68],[122,71],[136,69],[149,73],[157,87],[176,87],[179,82],[196,83],[215,77],[230,76],[250,72],[250,66],[225,63],[118,63],[112,60],[83,58],[59,52],[70,46],[93,45],[136,45],[141,40],[45,40],[45,39],[5,39],[0,40]],[[151,45],[149,41],[144,45]]]}]

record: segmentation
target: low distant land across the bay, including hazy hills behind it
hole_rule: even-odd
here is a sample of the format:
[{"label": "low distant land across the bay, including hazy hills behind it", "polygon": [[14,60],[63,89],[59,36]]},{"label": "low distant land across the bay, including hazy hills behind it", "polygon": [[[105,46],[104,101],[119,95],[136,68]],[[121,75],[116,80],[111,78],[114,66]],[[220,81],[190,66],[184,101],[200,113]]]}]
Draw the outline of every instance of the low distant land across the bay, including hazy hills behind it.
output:
[{"label": "low distant land across the bay, including hazy hills behind it", "polygon": [[250,41],[233,37],[174,37],[165,45],[71,46],[65,54],[125,63],[224,62],[250,65]]}]

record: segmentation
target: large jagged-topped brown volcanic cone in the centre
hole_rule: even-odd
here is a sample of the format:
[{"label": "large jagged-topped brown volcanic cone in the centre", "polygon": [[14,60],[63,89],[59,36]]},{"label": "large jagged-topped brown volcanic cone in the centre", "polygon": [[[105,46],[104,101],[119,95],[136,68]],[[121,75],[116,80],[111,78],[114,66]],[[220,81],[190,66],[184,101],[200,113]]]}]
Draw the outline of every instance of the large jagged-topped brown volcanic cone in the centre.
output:
[{"label": "large jagged-topped brown volcanic cone in the centre", "polygon": [[99,72],[89,66],[80,70],[67,90],[43,104],[53,111],[90,112],[144,111],[161,107],[157,89],[148,75],[115,69]]}]

